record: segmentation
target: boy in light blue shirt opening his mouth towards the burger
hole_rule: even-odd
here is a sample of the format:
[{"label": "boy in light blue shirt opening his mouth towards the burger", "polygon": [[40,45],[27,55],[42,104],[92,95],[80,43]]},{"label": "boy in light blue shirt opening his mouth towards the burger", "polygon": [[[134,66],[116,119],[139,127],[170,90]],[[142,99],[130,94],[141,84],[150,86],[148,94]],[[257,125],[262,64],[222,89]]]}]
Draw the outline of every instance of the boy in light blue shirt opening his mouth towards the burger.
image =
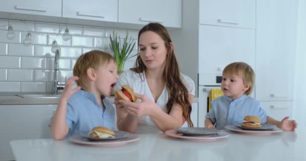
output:
[{"label": "boy in light blue shirt opening his mouth towards the burger", "polygon": [[[114,58],[99,50],[81,55],[68,78],[51,122],[51,136],[61,140],[97,126],[116,130],[115,109],[106,97],[116,85]],[[72,89],[73,82],[78,87]]]}]

